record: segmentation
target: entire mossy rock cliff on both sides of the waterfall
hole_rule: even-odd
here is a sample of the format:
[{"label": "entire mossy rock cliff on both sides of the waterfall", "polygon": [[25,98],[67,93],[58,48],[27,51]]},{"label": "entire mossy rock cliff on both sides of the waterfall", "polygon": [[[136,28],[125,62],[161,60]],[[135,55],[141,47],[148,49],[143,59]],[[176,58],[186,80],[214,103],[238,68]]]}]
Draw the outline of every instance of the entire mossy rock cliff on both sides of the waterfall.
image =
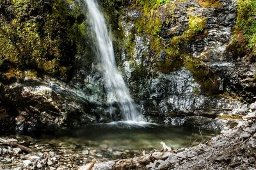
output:
[{"label": "entire mossy rock cliff on both sides of the waterfall", "polygon": [[[147,120],[218,128],[223,121],[215,118],[250,111],[256,66],[252,55],[236,56],[237,1],[100,5],[111,27],[117,65]],[[0,44],[0,130],[14,125],[20,132],[46,132],[120,120],[117,104],[115,118],[108,113],[83,6],[82,1],[0,3],[0,38],[10,42]],[[55,22],[56,27],[47,27]],[[13,43],[5,33],[27,45]]]}]

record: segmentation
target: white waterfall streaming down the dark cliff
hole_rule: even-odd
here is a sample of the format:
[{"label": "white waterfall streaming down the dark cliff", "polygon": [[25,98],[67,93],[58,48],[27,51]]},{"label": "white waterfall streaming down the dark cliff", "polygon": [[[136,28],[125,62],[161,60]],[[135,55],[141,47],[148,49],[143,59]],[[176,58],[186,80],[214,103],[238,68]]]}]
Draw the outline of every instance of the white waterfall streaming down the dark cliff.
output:
[{"label": "white waterfall streaming down the dark cliff", "polygon": [[95,0],[84,0],[88,6],[92,29],[97,42],[98,57],[101,61],[102,72],[108,89],[108,103],[117,102],[125,121],[141,121],[141,114],[134,106],[122,75],[118,72],[111,38],[106,27],[105,19]]}]

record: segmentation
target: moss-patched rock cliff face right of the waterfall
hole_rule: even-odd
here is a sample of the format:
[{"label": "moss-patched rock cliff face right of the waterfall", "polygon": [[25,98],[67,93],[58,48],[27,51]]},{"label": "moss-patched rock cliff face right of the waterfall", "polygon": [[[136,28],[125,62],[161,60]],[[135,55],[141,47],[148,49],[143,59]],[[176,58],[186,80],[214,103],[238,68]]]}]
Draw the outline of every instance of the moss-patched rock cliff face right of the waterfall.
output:
[{"label": "moss-patched rock cliff face right of the waterfall", "polygon": [[236,61],[227,50],[236,3],[145,1],[120,10],[120,69],[149,120],[214,123],[220,114],[248,111],[246,102],[255,100],[255,63]]}]

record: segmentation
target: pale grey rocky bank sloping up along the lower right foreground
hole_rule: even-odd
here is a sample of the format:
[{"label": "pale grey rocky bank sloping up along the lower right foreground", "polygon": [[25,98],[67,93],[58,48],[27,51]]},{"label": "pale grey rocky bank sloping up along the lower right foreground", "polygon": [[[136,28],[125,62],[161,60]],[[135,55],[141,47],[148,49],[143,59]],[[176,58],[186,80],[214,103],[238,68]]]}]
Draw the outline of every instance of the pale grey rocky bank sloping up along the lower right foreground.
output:
[{"label": "pale grey rocky bank sloping up along the lower right foreground", "polygon": [[141,157],[92,162],[80,169],[255,169],[256,122],[240,121],[207,143]]}]

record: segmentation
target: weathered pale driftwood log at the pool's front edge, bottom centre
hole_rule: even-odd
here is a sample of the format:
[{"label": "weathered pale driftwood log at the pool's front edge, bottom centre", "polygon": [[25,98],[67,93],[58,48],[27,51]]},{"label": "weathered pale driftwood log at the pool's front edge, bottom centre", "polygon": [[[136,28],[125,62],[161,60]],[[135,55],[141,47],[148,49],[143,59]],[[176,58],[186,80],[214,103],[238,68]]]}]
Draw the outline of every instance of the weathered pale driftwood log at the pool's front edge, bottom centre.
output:
[{"label": "weathered pale driftwood log at the pool's front edge, bottom centre", "polygon": [[143,155],[141,157],[126,158],[121,160],[113,160],[109,162],[96,162],[93,160],[90,164],[82,166],[79,170],[95,170],[95,169],[148,169],[147,165],[156,160],[165,160],[169,157],[170,151],[155,152]]}]

